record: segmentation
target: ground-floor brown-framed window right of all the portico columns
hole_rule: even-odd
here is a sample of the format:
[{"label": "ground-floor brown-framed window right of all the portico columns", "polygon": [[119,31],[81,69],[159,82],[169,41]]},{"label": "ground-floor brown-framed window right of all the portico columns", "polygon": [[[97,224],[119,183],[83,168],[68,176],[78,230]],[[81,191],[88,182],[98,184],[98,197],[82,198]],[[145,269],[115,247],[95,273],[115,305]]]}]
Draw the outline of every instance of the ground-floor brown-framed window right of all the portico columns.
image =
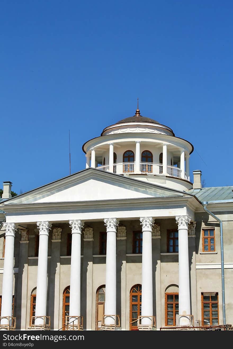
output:
[{"label": "ground-floor brown-framed window right of all the portico columns", "polygon": [[218,292],[202,292],[202,321],[204,325],[218,325]]}]

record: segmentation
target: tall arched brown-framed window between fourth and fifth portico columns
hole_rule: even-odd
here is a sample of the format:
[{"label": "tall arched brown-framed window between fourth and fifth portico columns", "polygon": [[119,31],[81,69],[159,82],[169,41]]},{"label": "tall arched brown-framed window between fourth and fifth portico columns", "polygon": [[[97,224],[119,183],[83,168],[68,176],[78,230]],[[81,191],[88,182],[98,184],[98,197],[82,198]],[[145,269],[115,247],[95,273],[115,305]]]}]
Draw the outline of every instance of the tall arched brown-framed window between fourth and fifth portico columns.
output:
[{"label": "tall arched brown-framed window between fourth and fifth portico columns", "polygon": [[138,330],[138,317],[141,315],[141,285],[134,285],[130,290],[130,331]]}]

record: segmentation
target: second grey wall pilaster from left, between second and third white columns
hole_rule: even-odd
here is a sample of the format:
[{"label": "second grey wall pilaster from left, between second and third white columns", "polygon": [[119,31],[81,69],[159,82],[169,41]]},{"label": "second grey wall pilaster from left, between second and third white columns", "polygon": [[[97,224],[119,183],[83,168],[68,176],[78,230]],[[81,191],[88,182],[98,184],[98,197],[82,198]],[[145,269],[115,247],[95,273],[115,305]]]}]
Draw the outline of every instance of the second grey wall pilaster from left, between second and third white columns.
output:
[{"label": "second grey wall pilaster from left, between second and third white columns", "polygon": [[52,231],[52,249],[50,262],[49,280],[49,314],[51,317],[51,328],[59,329],[59,299],[60,299],[60,245],[61,228]]}]

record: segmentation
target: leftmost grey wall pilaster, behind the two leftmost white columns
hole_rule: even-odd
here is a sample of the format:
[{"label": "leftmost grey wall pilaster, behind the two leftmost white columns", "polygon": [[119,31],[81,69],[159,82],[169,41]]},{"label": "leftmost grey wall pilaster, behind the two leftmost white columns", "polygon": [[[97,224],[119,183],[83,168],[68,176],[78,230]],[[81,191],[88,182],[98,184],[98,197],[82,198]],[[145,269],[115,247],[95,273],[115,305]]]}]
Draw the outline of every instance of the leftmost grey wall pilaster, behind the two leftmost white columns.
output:
[{"label": "leftmost grey wall pilaster, behind the two leftmost white columns", "polygon": [[[17,279],[17,298],[16,298],[16,319],[17,329],[26,330],[27,323],[27,287],[28,287],[28,230],[19,229],[21,234],[20,253],[19,253],[19,273]],[[19,304],[19,306],[18,306]]]}]

